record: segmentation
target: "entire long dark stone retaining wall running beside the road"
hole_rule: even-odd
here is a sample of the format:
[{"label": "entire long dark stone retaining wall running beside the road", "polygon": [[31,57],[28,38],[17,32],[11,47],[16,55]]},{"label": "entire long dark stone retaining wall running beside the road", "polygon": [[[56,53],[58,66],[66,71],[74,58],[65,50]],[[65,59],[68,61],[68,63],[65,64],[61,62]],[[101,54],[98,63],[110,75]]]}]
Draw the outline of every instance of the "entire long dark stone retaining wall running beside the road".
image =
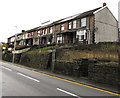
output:
[{"label": "entire long dark stone retaining wall running beside the road", "polygon": [[[109,85],[120,86],[120,66],[117,64],[99,64],[96,59],[73,59],[72,61],[65,61],[61,58],[65,52],[63,50],[56,50],[55,57],[52,56],[53,51],[23,53],[15,55],[15,63],[25,66],[51,70],[55,73],[73,76],[86,77],[90,81],[96,83],[104,83]],[[54,57],[54,58],[53,58]],[[68,58],[68,56],[66,56]],[[12,62],[12,54],[4,54],[3,60]],[[98,65],[99,64],[99,65]],[[54,66],[54,67],[53,67]]]}]

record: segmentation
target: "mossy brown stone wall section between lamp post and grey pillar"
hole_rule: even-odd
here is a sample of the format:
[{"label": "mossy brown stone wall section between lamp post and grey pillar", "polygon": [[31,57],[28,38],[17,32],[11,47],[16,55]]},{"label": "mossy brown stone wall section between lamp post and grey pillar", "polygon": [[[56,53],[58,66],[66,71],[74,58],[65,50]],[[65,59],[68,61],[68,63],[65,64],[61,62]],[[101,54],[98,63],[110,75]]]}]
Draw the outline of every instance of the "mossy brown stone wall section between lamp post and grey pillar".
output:
[{"label": "mossy brown stone wall section between lamp post and grey pillar", "polygon": [[51,53],[23,53],[19,63],[33,68],[49,69],[50,57]]}]

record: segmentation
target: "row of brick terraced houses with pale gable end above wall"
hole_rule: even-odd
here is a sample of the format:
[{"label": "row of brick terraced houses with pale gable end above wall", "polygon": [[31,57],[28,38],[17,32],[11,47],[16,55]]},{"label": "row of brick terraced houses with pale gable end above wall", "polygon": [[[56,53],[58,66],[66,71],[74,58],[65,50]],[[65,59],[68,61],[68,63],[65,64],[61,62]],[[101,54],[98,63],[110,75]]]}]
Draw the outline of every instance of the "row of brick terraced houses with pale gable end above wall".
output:
[{"label": "row of brick terraced houses with pale gable end above wall", "polygon": [[118,42],[118,21],[107,6],[79,13],[8,38],[22,46]]}]

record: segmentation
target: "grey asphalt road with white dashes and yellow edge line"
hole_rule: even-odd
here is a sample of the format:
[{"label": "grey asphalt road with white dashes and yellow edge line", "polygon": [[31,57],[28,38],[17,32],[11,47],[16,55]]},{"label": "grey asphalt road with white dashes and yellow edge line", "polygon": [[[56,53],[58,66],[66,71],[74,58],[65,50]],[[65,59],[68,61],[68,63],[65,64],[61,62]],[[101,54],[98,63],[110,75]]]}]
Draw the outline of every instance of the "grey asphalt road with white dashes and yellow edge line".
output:
[{"label": "grey asphalt road with white dashes and yellow edge line", "polygon": [[0,64],[2,96],[73,96],[78,98],[117,96],[116,93],[32,71],[11,63]]}]

